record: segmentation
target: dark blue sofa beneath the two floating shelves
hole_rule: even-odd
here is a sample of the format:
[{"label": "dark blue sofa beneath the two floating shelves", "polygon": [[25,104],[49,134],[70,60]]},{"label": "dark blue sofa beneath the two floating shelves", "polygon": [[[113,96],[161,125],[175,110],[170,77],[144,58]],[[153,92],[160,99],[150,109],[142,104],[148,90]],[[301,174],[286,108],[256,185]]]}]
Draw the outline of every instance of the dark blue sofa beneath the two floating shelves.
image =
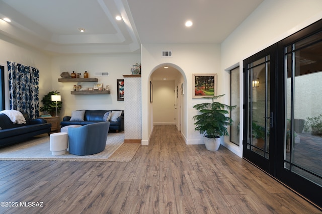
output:
[{"label": "dark blue sofa beneath the two floating shelves", "polygon": [[94,124],[99,122],[106,122],[104,120],[104,115],[107,112],[112,111],[122,111],[122,114],[116,121],[109,121],[110,128],[109,131],[111,132],[120,132],[124,130],[124,111],[123,110],[85,110],[85,115],[83,121],[71,121],[71,116],[63,117],[62,121],[60,122],[60,128],[69,125],[87,125],[87,124]]}]

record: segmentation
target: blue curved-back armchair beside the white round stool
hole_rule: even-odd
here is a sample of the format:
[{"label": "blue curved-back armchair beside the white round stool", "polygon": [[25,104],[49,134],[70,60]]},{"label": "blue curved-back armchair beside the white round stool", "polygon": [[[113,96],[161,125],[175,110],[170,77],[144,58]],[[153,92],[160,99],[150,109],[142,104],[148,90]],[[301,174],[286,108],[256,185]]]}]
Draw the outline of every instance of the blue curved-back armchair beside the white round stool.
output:
[{"label": "blue curved-back armchair beside the white round stool", "polygon": [[109,127],[110,122],[100,122],[68,128],[69,153],[93,155],[102,152],[106,146]]}]

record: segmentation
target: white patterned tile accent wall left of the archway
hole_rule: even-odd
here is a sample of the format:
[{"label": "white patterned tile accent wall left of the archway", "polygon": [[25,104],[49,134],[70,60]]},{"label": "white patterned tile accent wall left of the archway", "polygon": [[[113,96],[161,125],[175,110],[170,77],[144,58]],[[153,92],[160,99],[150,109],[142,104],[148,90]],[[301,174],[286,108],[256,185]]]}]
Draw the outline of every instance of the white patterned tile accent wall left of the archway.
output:
[{"label": "white patterned tile accent wall left of the archway", "polygon": [[126,76],[128,75],[124,75],[124,139],[142,139],[141,78]]}]

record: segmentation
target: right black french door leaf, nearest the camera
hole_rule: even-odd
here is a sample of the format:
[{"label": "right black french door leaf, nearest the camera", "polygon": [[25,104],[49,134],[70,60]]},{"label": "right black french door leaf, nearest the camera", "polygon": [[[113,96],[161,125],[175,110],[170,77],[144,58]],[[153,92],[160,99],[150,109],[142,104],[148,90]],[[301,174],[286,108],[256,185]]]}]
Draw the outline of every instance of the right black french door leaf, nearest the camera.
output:
[{"label": "right black french door leaf, nearest the camera", "polygon": [[[322,207],[322,20],[278,43],[277,175]],[[283,92],[282,92],[283,90]],[[299,185],[300,184],[300,185]]]}]

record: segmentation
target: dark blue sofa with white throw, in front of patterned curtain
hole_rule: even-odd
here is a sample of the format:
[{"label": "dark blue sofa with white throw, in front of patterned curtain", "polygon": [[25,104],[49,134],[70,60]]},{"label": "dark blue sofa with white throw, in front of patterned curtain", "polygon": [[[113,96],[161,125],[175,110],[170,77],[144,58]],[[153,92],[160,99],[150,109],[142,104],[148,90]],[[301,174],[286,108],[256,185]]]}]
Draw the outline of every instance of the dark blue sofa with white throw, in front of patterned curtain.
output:
[{"label": "dark blue sofa with white throw, in front of patterned curtain", "polygon": [[27,113],[22,113],[26,124],[14,124],[5,114],[0,114],[0,148],[26,141],[36,135],[48,133],[50,135],[51,124],[39,118],[30,120]]}]

